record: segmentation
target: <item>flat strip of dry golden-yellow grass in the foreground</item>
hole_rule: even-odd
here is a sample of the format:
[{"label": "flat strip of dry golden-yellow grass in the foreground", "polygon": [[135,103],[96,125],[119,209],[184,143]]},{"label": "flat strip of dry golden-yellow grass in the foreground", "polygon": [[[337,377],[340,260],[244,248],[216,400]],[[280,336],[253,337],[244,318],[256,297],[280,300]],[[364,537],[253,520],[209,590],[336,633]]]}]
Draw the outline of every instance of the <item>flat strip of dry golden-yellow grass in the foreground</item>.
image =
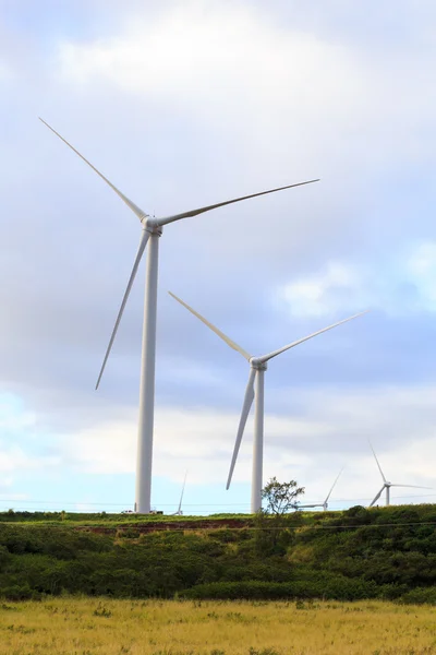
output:
[{"label": "flat strip of dry golden-yellow grass in the foreground", "polygon": [[8,655],[429,655],[436,607],[58,598],[0,604]]}]

